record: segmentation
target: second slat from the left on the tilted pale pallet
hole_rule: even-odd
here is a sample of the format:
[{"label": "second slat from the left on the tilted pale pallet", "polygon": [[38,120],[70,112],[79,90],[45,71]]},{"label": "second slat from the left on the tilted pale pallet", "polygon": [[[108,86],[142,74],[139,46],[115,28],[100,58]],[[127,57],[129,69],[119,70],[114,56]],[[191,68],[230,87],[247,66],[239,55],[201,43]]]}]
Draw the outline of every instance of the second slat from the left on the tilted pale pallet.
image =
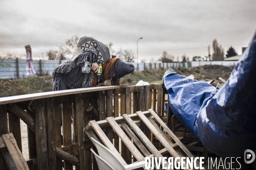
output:
[{"label": "second slat from the left on the tilted pale pallet", "polygon": [[118,134],[118,136],[122,139],[122,141],[125,143],[125,145],[128,147],[128,149],[131,151],[131,153],[135,156],[135,158],[138,161],[144,161],[144,156],[140,153],[139,150],[134,146],[134,144],[131,142],[131,140],[128,138],[128,136],[125,135],[124,131],[119,127],[119,125],[116,123],[116,121],[113,119],[113,117],[108,117],[106,120],[109,122],[111,127],[113,127],[113,130]]}]

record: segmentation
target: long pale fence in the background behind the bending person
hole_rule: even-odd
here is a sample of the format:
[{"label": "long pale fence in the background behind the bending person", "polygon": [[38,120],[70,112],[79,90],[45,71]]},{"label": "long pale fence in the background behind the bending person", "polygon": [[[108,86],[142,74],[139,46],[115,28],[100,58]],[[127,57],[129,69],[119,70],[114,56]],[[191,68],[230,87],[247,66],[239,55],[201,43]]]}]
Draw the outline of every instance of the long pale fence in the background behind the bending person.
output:
[{"label": "long pale fence in the background behind the bending person", "polygon": [[[62,60],[64,62],[65,60]],[[192,61],[185,63],[160,63],[160,62],[132,62],[135,71],[143,71],[145,69],[159,69],[159,68],[179,68],[179,67],[196,67],[199,65],[236,65],[237,61]],[[60,64],[59,60],[33,60],[33,66],[38,74],[52,74],[54,68]],[[26,76],[26,59],[0,59],[0,79],[15,79],[36,76]]]}]

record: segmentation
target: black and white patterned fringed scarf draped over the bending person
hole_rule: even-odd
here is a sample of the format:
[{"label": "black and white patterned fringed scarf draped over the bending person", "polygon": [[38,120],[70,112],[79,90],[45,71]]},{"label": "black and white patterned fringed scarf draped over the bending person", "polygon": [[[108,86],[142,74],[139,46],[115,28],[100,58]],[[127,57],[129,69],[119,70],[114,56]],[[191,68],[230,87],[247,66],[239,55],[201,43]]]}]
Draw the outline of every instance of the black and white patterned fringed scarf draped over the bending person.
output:
[{"label": "black and white patterned fringed scarf draped over the bending person", "polygon": [[[91,37],[82,37],[76,47],[73,57],[67,59],[61,65],[52,71],[52,85],[55,74],[68,74],[73,68],[81,67],[85,62],[94,62],[93,58],[97,57],[98,63],[106,63],[110,58],[110,52],[106,45]],[[82,73],[81,73],[82,74]],[[88,88],[93,85],[93,71],[84,74],[84,81],[81,84],[82,88]]]}]

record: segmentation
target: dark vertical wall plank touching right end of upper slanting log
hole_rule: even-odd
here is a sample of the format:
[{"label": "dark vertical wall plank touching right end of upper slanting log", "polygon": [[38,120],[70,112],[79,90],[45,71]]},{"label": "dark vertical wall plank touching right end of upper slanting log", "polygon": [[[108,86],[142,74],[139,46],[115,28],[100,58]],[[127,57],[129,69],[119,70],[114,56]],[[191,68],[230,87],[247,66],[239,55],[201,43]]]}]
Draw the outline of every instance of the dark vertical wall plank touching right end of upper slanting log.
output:
[{"label": "dark vertical wall plank touching right end of upper slanting log", "polygon": [[44,99],[38,99],[35,107],[35,142],[37,153],[38,170],[49,169],[48,150],[47,150],[47,133],[46,133],[46,116],[44,111]]}]

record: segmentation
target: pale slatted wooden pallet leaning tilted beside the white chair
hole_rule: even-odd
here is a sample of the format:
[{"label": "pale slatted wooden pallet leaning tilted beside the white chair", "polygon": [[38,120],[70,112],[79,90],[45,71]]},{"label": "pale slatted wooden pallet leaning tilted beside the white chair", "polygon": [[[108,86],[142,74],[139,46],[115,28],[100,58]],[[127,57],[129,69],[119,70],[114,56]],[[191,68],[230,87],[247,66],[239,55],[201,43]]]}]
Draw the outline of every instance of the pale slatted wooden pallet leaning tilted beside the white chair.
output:
[{"label": "pale slatted wooden pallet leaning tilted beside the white chair", "polygon": [[[157,150],[154,144],[152,144],[148,139],[148,136],[143,133],[142,126],[138,126],[139,123],[140,125],[145,124],[146,128],[148,128],[148,130],[150,130],[151,133],[159,139],[164,146],[163,149]],[[163,127],[176,143],[173,143],[172,140],[163,133],[163,130],[161,130],[158,125]],[[166,126],[160,117],[157,116],[157,113],[152,109],[148,109],[148,111],[144,112],[137,111],[136,114],[123,114],[121,117],[116,118],[108,117],[106,120],[98,122],[92,120],[84,128],[84,131],[90,138],[92,137],[99,141],[96,135],[99,136],[105,146],[108,147],[108,149],[111,150],[124,165],[126,165],[127,162],[125,161],[122,152],[120,155],[113,143],[102,130],[102,128],[108,126],[113,128],[114,132],[119,136],[137,161],[144,161],[145,157],[157,157],[159,160],[160,157],[163,157],[163,155],[168,153],[174,158],[184,157],[183,153],[185,153],[186,156],[193,157],[195,159],[192,153],[189,152],[183,143],[180,142],[174,133],[172,133],[172,130]],[[96,134],[93,133],[93,130]],[[133,142],[131,142],[131,139]],[[183,151],[183,153],[181,151]],[[186,167],[186,164],[184,164],[184,166]],[[197,162],[197,166],[199,167],[199,162]]]}]

